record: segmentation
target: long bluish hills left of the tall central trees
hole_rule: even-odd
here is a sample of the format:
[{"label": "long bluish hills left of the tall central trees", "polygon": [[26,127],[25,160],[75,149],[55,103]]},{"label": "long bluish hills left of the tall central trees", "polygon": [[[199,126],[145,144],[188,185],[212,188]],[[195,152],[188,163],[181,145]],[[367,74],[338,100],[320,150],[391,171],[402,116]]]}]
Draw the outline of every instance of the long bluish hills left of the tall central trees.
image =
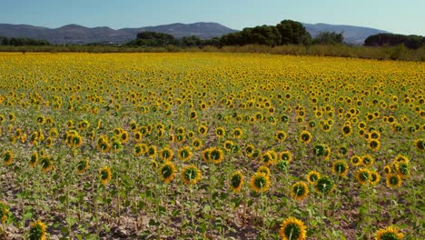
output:
[{"label": "long bluish hills left of the tall central trees", "polygon": [[236,32],[236,30],[217,23],[157,25],[118,30],[114,30],[107,26],[91,28],[83,25],[64,25],[52,29],[34,25],[0,24],[0,36],[45,39],[52,44],[124,44],[135,39],[137,33],[144,31],[170,34],[177,38],[197,35],[203,39],[219,37]]}]

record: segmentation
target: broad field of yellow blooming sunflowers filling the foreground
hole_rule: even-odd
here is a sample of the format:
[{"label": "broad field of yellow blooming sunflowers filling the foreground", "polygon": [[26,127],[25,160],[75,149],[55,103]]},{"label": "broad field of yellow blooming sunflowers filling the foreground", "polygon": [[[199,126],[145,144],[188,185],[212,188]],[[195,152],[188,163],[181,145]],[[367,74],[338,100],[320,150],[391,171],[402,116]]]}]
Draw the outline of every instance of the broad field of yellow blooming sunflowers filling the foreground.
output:
[{"label": "broad field of yellow blooming sunflowers filling the foreground", "polygon": [[424,63],[0,54],[0,239],[424,239]]}]

